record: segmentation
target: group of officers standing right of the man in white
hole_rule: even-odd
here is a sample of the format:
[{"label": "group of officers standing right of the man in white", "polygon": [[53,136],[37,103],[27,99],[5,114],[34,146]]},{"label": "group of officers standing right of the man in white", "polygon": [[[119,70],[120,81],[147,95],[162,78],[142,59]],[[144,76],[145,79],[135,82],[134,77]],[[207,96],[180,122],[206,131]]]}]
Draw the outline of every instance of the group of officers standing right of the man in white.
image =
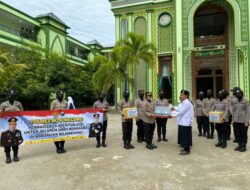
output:
[{"label": "group of officers standing right of the man in white", "polygon": [[[232,125],[235,137],[233,142],[238,143],[235,150],[245,152],[247,150],[247,131],[249,126],[248,101],[244,98],[244,93],[239,87],[234,87],[231,91],[233,96],[230,97],[227,90],[220,90],[217,100],[212,97],[211,90],[206,91],[207,98],[204,98],[205,94],[203,91],[198,93],[198,99],[195,102],[195,114],[199,136],[213,139],[215,127],[218,134],[218,142],[215,146],[226,148],[227,141],[230,140]],[[223,121],[221,123],[210,123],[210,111],[222,112]]]}]

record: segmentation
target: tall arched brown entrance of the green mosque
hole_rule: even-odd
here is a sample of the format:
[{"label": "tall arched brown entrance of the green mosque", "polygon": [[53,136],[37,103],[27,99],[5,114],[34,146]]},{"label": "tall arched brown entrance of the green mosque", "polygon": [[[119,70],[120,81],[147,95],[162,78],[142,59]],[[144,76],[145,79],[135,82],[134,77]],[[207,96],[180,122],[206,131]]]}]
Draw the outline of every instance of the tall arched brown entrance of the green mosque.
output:
[{"label": "tall arched brown entrance of the green mosque", "polygon": [[194,15],[192,94],[211,89],[215,97],[229,88],[228,14],[223,7],[204,3]]}]

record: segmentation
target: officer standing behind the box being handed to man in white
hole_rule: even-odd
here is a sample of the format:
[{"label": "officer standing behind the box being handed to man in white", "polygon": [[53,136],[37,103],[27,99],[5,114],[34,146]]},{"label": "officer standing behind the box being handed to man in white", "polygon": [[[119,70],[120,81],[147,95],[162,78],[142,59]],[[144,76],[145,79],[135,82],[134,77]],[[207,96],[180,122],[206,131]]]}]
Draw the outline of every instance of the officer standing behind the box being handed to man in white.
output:
[{"label": "officer standing behind the box being handed to man in white", "polygon": [[[159,99],[156,100],[156,106],[169,106],[168,100],[164,98],[164,92],[159,92]],[[161,141],[161,134],[162,134],[162,140],[167,142],[168,139],[166,139],[166,125],[167,125],[167,118],[156,118],[156,124],[157,124],[157,134],[158,139],[157,142]]]}]

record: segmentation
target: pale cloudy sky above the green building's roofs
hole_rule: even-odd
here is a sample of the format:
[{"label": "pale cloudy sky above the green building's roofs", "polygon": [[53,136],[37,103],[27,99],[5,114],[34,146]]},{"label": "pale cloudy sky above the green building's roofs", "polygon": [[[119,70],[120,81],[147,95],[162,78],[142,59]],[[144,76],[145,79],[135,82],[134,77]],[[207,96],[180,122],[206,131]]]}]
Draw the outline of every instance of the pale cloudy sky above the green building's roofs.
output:
[{"label": "pale cloudy sky above the green building's roofs", "polygon": [[87,43],[97,40],[104,47],[115,43],[115,18],[108,0],[3,0],[36,17],[53,12],[67,26],[68,35]]}]

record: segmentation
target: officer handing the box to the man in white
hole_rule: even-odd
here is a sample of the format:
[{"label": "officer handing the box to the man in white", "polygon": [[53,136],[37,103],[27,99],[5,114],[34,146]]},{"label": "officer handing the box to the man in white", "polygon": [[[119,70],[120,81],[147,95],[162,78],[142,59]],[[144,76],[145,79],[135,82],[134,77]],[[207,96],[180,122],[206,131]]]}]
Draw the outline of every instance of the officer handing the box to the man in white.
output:
[{"label": "officer handing the box to the man in white", "polygon": [[155,111],[155,101],[153,100],[153,94],[152,92],[147,92],[144,104],[144,116],[142,120],[146,137],[145,138],[146,148],[149,150],[157,148],[157,146],[152,143],[155,130],[154,111]]}]

